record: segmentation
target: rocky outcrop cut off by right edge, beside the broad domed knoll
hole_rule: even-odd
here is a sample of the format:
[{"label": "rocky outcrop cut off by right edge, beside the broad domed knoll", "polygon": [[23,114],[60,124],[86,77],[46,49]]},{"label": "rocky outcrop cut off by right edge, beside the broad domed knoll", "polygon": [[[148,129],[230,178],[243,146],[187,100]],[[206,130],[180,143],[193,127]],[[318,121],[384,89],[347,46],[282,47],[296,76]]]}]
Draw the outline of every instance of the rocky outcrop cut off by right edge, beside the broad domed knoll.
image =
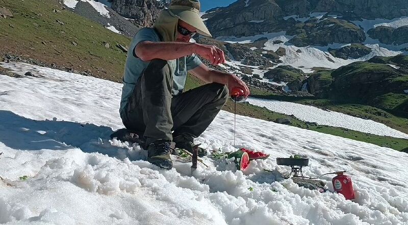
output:
[{"label": "rocky outcrop cut off by right edge, beside the broad domed knoll", "polygon": [[408,26],[401,26],[393,28],[389,26],[377,26],[369,29],[367,34],[373,38],[378,39],[384,44],[401,45],[408,43]]}]

